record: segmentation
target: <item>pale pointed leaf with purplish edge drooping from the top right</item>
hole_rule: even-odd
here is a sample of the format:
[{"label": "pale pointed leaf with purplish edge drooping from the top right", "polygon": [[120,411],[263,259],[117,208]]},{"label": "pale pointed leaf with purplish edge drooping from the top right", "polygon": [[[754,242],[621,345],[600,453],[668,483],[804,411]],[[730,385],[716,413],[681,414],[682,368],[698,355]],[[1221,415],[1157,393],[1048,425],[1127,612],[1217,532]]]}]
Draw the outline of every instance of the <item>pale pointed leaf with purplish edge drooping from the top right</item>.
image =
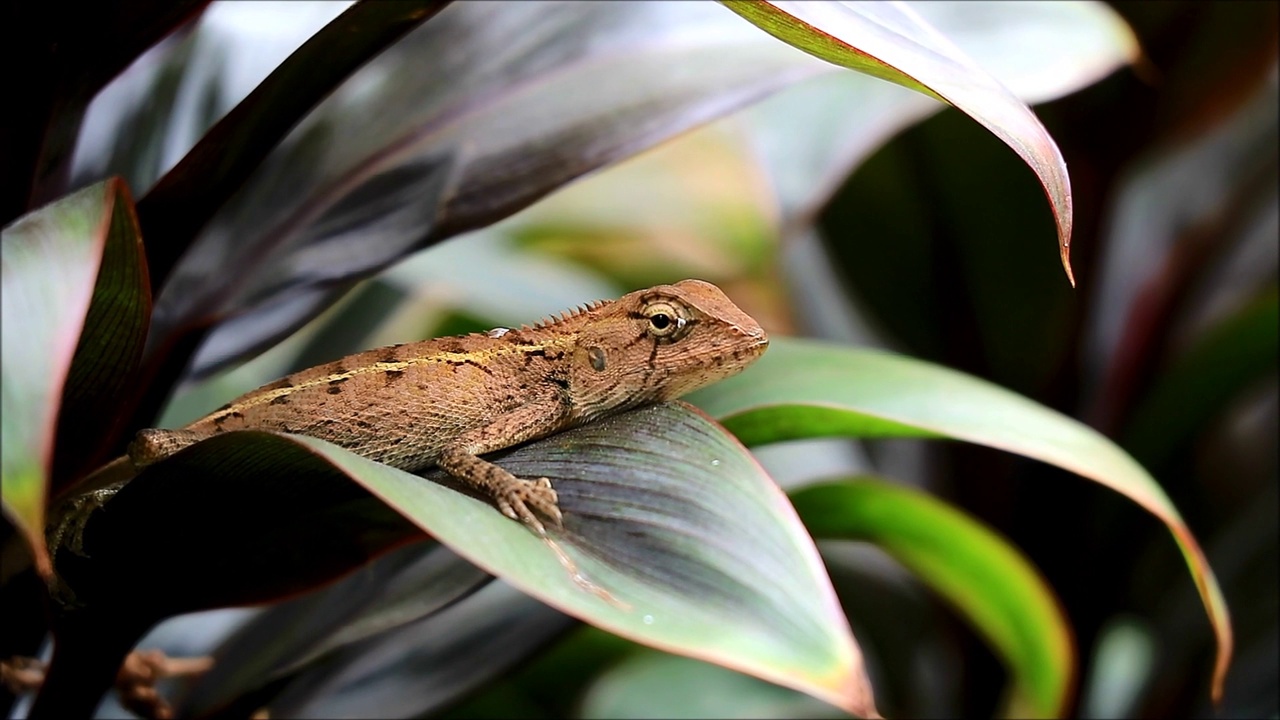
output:
[{"label": "pale pointed leaf with purplish edge drooping from the top right", "polygon": [[1071,186],[1066,163],[1030,108],[900,3],[724,0],[774,37],[829,63],[954,105],[1030,165],[1057,223],[1062,269],[1071,274]]}]

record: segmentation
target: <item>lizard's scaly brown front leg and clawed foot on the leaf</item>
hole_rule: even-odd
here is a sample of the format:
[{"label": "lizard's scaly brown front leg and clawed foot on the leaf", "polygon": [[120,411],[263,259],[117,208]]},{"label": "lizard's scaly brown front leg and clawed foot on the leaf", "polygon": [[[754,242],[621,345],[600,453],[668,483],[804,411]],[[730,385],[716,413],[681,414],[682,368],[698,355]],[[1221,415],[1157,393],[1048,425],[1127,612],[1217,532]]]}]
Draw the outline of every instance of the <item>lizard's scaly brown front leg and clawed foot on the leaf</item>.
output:
[{"label": "lizard's scaly brown front leg and clawed foot on the leaf", "polygon": [[563,413],[558,401],[531,402],[499,416],[493,423],[465,433],[440,451],[436,465],[466,484],[488,493],[498,510],[512,520],[521,520],[540,536],[547,529],[539,515],[561,524],[556,489],[547,478],[525,480],[483,460],[479,455],[503,450],[521,442],[550,434]]}]

